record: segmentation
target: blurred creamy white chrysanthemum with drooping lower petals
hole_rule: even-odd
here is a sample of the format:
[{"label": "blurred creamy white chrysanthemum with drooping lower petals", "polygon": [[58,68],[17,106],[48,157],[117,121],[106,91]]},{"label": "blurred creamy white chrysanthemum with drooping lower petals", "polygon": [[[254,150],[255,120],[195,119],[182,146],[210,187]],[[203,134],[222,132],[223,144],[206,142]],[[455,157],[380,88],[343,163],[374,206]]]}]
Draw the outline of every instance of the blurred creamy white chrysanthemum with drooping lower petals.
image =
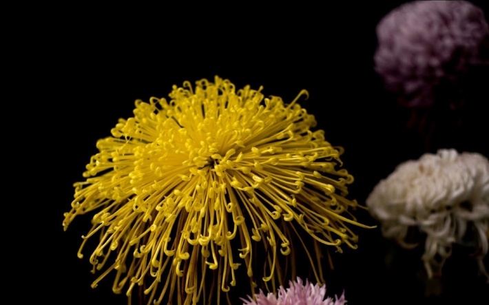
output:
[{"label": "blurred creamy white chrysanthemum with drooping lower petals", "polygon": [[422,259],[429,277],[450,256],[452,243],[463,243],[473,233],[472,242],[481,250],[479,270],[489,279],[483,265],[488,253],[489,162],[480,154],[440,149],[404,162],[379,182],[366,204],[381,222],[384,237],[402,246],[415,246],[406,242],[410,227],[426,233]]}]

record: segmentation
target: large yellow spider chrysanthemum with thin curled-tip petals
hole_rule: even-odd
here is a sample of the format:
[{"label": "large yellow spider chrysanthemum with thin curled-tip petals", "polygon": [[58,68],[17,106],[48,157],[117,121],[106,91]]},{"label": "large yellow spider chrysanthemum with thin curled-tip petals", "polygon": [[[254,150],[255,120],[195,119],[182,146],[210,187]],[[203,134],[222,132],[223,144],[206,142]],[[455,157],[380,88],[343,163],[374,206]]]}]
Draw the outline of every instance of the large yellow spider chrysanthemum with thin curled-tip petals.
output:
[{"label": "large yellow spider chrysanthemum with thin curled-tip petals", "polygon": [[209,273],[227,292],[244,264],[254,285],[255,244],[266,250],[262,280],[273,289],[285,272],[277,250],[294,253],[293,236],[304,246],[300,235],[311,235],[315,257],[304,249],[317,282],[324,282],[318,243],[356,247],[346,223],[365,226],[348,211],[357,207],[345,198],[353,177],[335,168],[342,148],[310,130],[314,116],[296,103],[305,90],[288,105],[261,90],[236,91],[217,76],[194,88],[174,85],[169,102],[136,101],[134,118],[98,140],[63,222],[67,229],[76,215],[96,211],[79,257],[97,233],[90,262],[94,272],[108,268],[92,286],[114,271],[115,293],[130,296],[144,284],[148,304],[164,297],[195,304],[212,294],[204,288]]}]

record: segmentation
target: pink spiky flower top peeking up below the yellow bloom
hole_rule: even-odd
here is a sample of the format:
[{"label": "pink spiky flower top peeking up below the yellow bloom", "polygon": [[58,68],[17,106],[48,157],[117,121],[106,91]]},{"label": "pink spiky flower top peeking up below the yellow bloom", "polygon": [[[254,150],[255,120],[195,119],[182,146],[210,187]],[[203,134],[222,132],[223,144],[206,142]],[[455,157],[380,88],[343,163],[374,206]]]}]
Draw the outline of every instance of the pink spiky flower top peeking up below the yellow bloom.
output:
[{"label": "pink spiky flower top peeking up below the yellow bloom", "polygon": [[300,277],[297,278],[297,282],[289,282],[289,288],[285,289],[280,286],[277,295],[274,293],[268,293],[265,295],[260,290],[258,295],[255,295],[256,300],[248,296],[249,300],[242,299],[245,303],[243,305],[344,305],[346,299],[344,299],[344,293],[340,298],[335,296],[335,300],[331,297],[326,297],[326,285],[319,286],[313,285],[306,280],[305,284],[302,284]]}]

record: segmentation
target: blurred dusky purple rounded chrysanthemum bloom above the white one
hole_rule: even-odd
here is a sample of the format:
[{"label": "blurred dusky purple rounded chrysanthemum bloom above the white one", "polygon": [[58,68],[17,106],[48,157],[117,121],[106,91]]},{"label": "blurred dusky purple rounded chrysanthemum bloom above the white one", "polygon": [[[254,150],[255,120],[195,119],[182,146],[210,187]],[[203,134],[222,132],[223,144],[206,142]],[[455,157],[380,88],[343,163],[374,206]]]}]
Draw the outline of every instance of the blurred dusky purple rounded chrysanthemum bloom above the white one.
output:
[{"label": "blurred dusky purple rounded chrysanthemum bloom above the white one", "polygon": [[406,3],[379,22],[377,39],[375,70],[411,107],[432,105],[438,85],[489,65],[488,23],[467,1]]}]

